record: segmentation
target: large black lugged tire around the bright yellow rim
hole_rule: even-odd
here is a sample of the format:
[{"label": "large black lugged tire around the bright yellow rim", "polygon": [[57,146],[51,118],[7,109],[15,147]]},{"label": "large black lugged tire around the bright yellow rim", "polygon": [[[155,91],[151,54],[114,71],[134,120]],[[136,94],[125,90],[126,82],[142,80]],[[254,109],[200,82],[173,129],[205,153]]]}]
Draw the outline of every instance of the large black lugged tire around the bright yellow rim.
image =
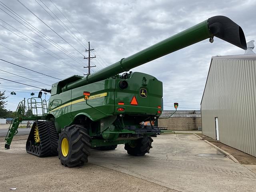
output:
[{"label": "large black lugged tire around the bright yellow rim", "polygon": [[[64,138],[68,140],[69,144],[68,155],[66,157],[63,156],[61,151],[61,143]],[[87,129],[84,126],[66,126],[60,133],[58,141],[60,162],[68,167],[81,166],[88,162],[90,147],[90,136],[87,134]]]}]

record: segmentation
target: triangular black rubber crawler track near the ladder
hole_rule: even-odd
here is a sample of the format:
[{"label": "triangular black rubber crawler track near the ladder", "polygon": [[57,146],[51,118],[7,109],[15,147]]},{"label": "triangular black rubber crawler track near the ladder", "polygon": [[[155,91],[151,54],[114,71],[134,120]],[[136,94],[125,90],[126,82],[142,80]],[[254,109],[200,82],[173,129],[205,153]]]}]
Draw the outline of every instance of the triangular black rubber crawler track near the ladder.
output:
[{"label": "triangular black rubber crawler track near the ladder", "polygon": [[[38,126],[38,132],[40,137],[40,143],[36,143],[34,140],[35,126]],[[56,132],[54,122],[48,121],[36,121],[34,122],[28,140],[26,143],[26,151],[32,155],[38,157],[48,157],[58,155],[58,134]],[[35,150],[29,150],[29,144],[38,146],[38,153]],[[40,150],[39,150],[40,148]]]}]

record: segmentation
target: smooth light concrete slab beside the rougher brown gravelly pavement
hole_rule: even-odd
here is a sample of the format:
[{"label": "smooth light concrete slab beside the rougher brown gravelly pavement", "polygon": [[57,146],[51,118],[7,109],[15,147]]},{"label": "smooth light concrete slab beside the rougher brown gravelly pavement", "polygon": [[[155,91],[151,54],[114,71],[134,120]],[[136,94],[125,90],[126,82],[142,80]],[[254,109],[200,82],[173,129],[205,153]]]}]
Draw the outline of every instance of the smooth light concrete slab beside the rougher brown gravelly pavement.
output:
[{"label": "smooth light concrete slab beside the rougher brown gravelly pavement", "polygon": [[123,146],[94,151],[90,163],[179,191],[255,192],[256,174],[194,135],[160,135],[150,154],[133,157]]}]

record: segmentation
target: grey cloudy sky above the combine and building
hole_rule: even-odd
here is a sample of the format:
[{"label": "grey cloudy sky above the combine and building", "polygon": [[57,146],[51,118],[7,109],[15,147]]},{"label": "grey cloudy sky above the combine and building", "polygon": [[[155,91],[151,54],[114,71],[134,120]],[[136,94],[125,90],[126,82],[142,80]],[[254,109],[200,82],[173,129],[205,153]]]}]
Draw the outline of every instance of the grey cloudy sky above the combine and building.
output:
[{"label": "grey cloudy sky above the combine and building", "polygon": [[[97,71],[216,15],[238,23],[247,42],[256,40],[254,0],[19,1],[0,0],[0,59],[48,76],[0,60],[5,71],[0,71],[0,78],[39,88],[50,88],[58,81],[55,78],[87,73],[83,58],[88,41],[96,55],[92,64],[97,67],[92,70]],[[204,40],[132,71],[163,82],[165,110],[172,110],[173,102],[179,102],[180,110],[198,110],[211,57],[233,54],[244,50],[215,38],[213,44]],[[6,90],[9,96],[8,110],[39,90],[2,79],[0,83],[1,92]],[[10,95],[12,91],[16,95]]]}]

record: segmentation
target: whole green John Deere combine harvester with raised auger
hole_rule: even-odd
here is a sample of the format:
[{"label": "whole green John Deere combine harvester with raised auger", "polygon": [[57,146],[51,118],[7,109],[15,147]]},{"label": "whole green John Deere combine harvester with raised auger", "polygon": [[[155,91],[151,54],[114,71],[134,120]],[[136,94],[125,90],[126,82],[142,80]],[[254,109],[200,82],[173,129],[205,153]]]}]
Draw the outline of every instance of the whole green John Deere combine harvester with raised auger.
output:
[{"label": "whole green John Deere combine harvester with raised auger", "polygon": [[[21,101],[5,148],[10,148],[20,122],[33,120],[26,151],[38,157],[58,155],[64,166],[88,162],[90,148],[113,150],[124,144],[130,155],[149,153],[152,137],[161,132],[156,121],[162,113],[162,82],[130,69],[207,38],[213,42],[214,36],[246,50],[240,26],[225,16],[211,17],[86,77],[56,82],[38,98],[28,99],[28,108]],[[51,93],[48,105],[42,91]],[[25,108],[30,115],[25,116]]]}]

